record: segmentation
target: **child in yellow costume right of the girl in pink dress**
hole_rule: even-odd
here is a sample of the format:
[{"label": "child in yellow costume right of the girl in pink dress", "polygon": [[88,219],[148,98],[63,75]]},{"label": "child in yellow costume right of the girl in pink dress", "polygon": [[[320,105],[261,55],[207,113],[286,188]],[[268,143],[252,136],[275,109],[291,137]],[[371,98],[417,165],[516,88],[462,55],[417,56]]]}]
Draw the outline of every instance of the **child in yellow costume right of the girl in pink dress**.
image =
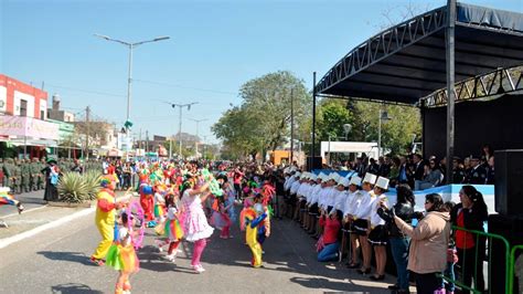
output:
[{"label": "child in yellow costume right of the girl in pink dress", "polygon": [[256,203],[254,208],[250,208],[245,213],[245,239],[247,240],[247,244],[253,252],[253,260],[250,264],[254,267],[262,266],[262,245],[258,242],[258,225],[262,223],[267,213],[264,211],[264,207],[260,203]]}]

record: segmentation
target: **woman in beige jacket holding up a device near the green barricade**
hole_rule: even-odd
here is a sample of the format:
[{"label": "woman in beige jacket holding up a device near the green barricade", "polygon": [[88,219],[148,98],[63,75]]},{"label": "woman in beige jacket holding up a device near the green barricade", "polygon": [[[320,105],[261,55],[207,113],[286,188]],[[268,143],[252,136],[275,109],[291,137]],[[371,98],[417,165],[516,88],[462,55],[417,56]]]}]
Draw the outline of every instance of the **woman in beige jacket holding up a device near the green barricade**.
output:
[{"label": "woman in beige jacket holding up a device near the green barricade", "polygon": [[413,228],[405,220],[394,217],[397,228],[410,238],[407,269],[415,274],[416,292],[433,294],[441,287],[441,272],[447,266],[447,248],[450,238],[450,214],[441,196],[425,196],[426,216]]}]

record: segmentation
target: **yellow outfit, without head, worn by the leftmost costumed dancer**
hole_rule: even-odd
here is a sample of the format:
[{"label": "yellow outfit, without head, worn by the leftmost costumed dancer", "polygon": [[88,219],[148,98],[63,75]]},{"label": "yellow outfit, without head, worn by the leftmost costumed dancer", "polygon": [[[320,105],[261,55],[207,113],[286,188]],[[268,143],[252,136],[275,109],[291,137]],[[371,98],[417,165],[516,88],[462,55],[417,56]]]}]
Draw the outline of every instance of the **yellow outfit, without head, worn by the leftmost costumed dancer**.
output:
[{"label": "yellow outfit, without head, worn by the leftmost costumed dancer", "polygon": [[107,255],[115,237],[114,230],[116,199],[115,192],[107,188],[102,189],[96,198],[98,202],[96,206],[95,223],[96,228],[98,228],[98,232],[102,235],[102,241],[93,254],[93,258],[103,260]]}]

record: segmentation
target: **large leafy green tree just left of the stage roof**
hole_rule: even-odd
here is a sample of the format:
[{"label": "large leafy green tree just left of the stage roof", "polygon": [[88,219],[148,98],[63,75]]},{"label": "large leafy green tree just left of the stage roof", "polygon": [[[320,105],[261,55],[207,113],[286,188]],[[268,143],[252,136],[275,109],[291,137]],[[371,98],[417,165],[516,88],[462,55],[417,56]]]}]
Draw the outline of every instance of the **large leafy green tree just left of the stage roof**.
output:
[{"label": "large leafy green tree just left of the stage roof", "polygon": [[285,144],[290,130],[291,98],[297,126],[305,124],[310,94],[292,73],[269,73],[245,83],[239,90],[242,105],[224,113],[212,127],[224,147],[238,155],[264,155]]}]

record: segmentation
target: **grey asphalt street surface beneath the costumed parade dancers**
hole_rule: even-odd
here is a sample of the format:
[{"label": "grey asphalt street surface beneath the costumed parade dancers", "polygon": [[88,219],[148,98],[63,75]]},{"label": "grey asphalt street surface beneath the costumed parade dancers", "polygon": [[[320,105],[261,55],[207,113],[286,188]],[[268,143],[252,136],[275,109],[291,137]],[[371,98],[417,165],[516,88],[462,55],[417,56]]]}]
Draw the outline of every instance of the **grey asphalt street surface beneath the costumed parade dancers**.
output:
[{"label": "grey asphalt street surface beneath the costumed parade dancers", "polygon": [[[28,216],[31,212],[28,213]],[[88,256],[99,241],[94,213],[44,231],[0,251],[0,293],[110,293],[117,272],[93,265]],[[388,293],[387,283],[376,283],[342,264],[316,261],[314,242],[296,222],[274,220],[265,242],[264,266],[253,269],[250,252],[235,225],[233,239],[215,231],[202,262],[205,272],[190,266],[188,243],[180,246],[177,264],[164,260],[153,245],[149,229],[138,251],[140,271],[131,277],[135,293]],[[191,246],[189,245],[189,249]],[[338,269],[338,270],[337,270]]]}]

